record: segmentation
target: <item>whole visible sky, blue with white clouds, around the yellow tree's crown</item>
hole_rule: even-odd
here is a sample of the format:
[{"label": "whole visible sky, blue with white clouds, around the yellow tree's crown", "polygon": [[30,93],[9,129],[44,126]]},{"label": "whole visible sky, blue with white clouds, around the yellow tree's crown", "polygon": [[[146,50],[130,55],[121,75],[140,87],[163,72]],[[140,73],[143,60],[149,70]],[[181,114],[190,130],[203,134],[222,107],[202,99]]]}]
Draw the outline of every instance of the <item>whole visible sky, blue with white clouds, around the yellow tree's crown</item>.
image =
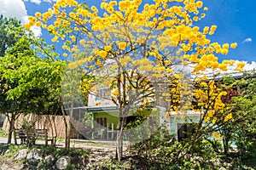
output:
[{"label": "whole visible sky, blue with white clouds, around the yellow tree's crown", "polygon": [[[0,0],[0,14],[15,16],[26,22],[27,15],[44,12],[55,0]],[[81,2],[82,0],[80,0]],[[218,29],[210,38],[212,42],[237,42],[236,49],[230,50],[219,59],[238,59],[248,62],[256,61],[256,1],[254,0],[202,0],[209,8],[205,19],[198,22],[199,26],[217,25]],[[99,6],[101,0],[84,0],[89,6]],[[143,0],[143,3],[150,0]],[[49,40],[45,31],[34,28],[38,36]],[[255,65],[254,65],[255,66]]]}]

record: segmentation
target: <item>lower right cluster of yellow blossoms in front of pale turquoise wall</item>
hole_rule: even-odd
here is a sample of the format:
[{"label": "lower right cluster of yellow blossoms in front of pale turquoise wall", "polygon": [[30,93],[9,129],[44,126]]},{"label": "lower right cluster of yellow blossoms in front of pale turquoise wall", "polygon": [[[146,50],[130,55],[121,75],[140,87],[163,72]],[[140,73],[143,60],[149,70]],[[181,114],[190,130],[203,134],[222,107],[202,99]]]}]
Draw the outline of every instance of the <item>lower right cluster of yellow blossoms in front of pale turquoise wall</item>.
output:
[{"label": "lower right cluster of yellow blossoms in front of pale turquoise wall", "polygon": [[[198,123],[198,135],[195,139],[201,138],[203,133],[212,133],[213,138],[222,139],[223,136],[217,133],[225,122],[233,120],[229,108],[224,104],[225,89],[214,80],[195,82],[194,111],[201,112],[201,120]],[[218,126],[216,126],[218,125]]]}]

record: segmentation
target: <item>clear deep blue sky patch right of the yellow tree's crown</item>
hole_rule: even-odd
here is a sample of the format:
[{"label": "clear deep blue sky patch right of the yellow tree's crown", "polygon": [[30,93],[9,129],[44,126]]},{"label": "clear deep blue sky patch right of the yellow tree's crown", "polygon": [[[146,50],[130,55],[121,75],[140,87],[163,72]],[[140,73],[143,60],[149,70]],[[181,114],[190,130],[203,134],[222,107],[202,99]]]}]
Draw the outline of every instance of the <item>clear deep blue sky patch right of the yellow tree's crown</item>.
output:
[{"label": "clear deep blue sky patch right of the yellow tree's crown", "polygon": [[256,1],[205,0],[204,2],[209,10],[205,20],[201,20],[201,24],[218,26],[212,41],[238,44],[237,48],[230,50],[230,54],[224,58],[255,61]]}]

